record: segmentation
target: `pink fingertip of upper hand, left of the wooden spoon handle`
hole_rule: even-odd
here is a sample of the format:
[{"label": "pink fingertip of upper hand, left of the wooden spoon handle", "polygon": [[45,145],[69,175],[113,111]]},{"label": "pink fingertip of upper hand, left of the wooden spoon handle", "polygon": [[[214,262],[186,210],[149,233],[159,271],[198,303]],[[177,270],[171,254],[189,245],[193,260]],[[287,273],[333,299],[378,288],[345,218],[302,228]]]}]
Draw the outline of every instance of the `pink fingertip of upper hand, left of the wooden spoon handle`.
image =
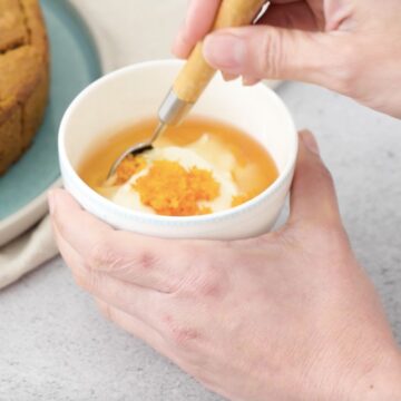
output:
[{"label": "pink fingertip of upper hand, left of the wooden spoon handle", "polygon": [[187,58],[195,45],[211,31],[222,0],[192,0],[182,30],[173,52],[179,58]]}]

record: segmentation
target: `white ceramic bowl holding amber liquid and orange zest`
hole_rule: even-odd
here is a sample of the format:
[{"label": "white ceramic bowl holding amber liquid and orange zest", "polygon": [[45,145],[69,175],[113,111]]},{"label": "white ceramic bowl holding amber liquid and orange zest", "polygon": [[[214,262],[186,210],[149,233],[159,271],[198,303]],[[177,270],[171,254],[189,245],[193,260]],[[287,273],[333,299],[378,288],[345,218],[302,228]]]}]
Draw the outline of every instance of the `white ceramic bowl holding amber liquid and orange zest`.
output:
[{"label": "white ceramic bowl holding amber liquid and orange zest", "polygon": [[256,198],[205,216],[168,217],[133,212],[88,187],[76,173],[92,145],[157,109],[182,67],[163,60],[109,74],[86,88],[70,105],[60,126],[59,155],[66,188],[84,208],[116,228],[169,238],[234,239],[256,236],[274,225],[288,194],[297,154],[297,134],[282,100],[263,84],[243,87],[213,80],[193,115],[227,121],[248,133],[273,156],[280,177]]}]

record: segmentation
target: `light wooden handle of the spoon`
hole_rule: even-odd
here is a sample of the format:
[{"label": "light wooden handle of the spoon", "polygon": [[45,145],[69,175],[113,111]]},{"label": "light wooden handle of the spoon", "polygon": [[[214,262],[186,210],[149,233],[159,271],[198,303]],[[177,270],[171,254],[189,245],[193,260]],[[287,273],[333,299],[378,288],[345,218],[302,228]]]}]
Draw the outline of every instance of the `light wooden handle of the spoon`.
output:
[{"label": "light wooden handle of the spoon", "polygon": [[[212,31],[253,22],[266,0],[223,0]],[[196,45],[179,72],[173,90],[180,100],[195,104],[215,75],[203,57],[203,43]]]}]

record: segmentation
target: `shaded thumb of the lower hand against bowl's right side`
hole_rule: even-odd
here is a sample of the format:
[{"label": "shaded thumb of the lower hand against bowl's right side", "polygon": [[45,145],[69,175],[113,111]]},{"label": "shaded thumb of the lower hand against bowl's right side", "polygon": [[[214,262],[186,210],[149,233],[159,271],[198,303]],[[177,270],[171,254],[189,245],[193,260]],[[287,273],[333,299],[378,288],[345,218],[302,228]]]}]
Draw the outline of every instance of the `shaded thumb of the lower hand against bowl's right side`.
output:
[{"label": "shaded thumb of the lower hand against bowl's right side", "polygon": [[301,133],[300,138],[290,221],[341,224],[333,180],[319,156],[316,140],[309,131]]}]

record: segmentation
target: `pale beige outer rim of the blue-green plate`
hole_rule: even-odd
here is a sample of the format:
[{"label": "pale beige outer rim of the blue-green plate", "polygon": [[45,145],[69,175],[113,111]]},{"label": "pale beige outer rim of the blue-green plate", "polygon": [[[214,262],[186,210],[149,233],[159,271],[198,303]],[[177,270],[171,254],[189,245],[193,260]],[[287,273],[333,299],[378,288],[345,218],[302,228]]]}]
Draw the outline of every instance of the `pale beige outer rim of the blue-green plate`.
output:
[{"label": "pale beige outer rim of the blue-green plate", "polygon": [[[96,40],[96,36],[90,25],[87,22],[84,13],[79,11],[79,9],[72,4],[70,1],[66,1],[65,6],[71,9],[71,12],[79,18],[82,23],[84,29],[87,31],[90,40],[94,43],[97,59],[99,62],[100,76],[105,75],[105,60],[101,57],[101,51]],[[58,135],[58,134],[57,134]],[[47,194],[52,188],[58,188],[62,186],[62,179],[59,175],[43,192],[38,194],[32,200],[27,203],[16,213],[7,216],[3,219],[0,219],[0,248],[13,239],[16,239],[19,235],[27,232],[35,224],[37,224],[45,215],[48,213],[49,207],[47,203]]]}]

